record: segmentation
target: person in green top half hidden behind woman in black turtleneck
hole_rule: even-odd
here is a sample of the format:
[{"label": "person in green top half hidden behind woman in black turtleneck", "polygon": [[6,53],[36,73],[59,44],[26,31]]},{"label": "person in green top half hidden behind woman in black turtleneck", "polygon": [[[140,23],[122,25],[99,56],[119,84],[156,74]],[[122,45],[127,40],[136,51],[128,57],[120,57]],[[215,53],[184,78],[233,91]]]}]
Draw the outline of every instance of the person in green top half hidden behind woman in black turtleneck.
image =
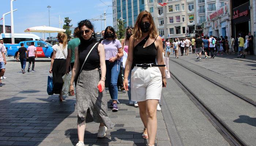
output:
[{"label": "person in green top half hidden behind woman in black turtleneck", "polygon": [[74,39],[71,39],[68,42],[68,56],[67,56],[67,66],[66,66],[66,73],[70,72],[69,65],[71,66],[71,70],[73,69],[74,63],[75,63],[75,48],[78,47],[80,44],[79,39],[79,27],[75,28],[74,31]]}]

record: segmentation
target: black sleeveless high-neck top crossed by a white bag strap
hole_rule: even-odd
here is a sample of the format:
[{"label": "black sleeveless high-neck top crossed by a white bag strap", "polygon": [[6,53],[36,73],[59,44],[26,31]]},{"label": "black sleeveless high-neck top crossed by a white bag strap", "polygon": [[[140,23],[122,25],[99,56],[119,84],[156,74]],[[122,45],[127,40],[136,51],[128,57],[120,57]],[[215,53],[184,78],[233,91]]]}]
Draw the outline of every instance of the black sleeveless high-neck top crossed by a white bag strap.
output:
[{"label": "black sleeveless high-neck top crossed by a white bag strap", "polygon": [[79,62],[80,62],[79,69],[82,68],[83,70],[94,70],[96,68],[99,68],[99,51],[98,51],[99,43],[91,51],[84,66],[82,67],[84,59],[86,58],[91,48],[95,45],[95,43],[97,42],[94,39],[91,39],[89,41],[81,42],[81,44],[78,46]]}]

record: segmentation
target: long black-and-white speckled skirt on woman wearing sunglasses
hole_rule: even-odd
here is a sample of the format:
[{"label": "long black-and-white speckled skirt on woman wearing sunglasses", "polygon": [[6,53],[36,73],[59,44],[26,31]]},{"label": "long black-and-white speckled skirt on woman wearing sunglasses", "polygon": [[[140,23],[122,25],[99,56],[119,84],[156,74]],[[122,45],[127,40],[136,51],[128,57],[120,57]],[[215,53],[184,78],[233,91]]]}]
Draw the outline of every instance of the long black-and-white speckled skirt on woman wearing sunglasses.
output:
[{"label": "long black-and-white speckled skirt on woman wearing sunglasses", "polygon": [[113,128],[114,123],[108,117],[106,92],[99,92],[99,70],[82,70],[76,84],[76,104],[78,124],[104,123],[107,128]]}]

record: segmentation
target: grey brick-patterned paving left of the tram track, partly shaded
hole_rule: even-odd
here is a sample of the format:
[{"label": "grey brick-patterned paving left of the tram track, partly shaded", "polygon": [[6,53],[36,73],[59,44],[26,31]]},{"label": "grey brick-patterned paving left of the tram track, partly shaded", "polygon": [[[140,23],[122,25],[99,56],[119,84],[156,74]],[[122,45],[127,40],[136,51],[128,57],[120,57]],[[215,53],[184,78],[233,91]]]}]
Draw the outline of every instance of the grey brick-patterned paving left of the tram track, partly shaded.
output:
[{"label": "grey brick-patterned paving left of the tram track, partly shaded", "polygon": [[[20,63],[8,58],[0,88],[1,146],[73,146],[78,142],[75,96],[60,103],[58,95],[46,93],[50,62],[35,62],[35,72],[21,73]],[[40,58],[39,58],[40,60]],[[145,146],[139,109],[128,105],[126,92],[119,92],[119,111],[108,110],[116,126],[105,138],[97,138],[98,123],[86,124],[86,146]],[[109,104],[110,96],[108,94]],[[157,146],[170,146],[161,111],[157,112]]]}]

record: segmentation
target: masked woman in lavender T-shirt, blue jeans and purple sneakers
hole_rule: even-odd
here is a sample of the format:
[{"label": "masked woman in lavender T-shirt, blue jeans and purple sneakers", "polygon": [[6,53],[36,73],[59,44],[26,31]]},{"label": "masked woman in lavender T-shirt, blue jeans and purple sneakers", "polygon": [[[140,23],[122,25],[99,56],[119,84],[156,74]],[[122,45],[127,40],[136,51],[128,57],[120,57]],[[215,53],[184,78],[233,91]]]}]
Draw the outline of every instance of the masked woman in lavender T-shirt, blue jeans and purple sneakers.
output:
[{"label": "masked woman in lavender T-shirt, blue jeans and purple sneakers", "polygon": [[106,80],[109,85],[109,93],[112,99],[110,108],[112,111],[118,111],[118,89],[117,78],[120,72],[120,58],[124,55],[120,41],[116,38],[116,32],[113,27],[108,26],[104,32],[104,40],[101,44],[105,48],[106,61]]}]

